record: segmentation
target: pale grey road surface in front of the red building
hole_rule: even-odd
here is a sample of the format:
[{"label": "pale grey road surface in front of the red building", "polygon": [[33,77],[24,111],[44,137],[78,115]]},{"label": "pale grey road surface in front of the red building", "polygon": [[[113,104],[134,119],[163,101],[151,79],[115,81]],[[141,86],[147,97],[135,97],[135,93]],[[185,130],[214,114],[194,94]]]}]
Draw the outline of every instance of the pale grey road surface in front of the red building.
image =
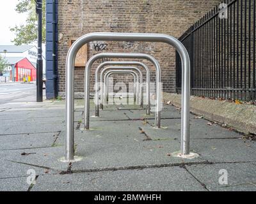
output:
[{"label": "pale grey road surface in front of the red building", "polygon": [[35,101],[35,83],[0,83],[0,104]]}]

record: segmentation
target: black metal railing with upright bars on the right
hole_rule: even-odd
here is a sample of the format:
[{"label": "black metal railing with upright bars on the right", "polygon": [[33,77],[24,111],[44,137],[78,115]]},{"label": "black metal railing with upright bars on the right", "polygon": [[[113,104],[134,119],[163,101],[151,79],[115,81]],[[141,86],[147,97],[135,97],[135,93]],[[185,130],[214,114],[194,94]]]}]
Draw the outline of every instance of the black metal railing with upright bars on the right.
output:
[{"label": "black metal railing with upright bars on the right", "polygon": [[[255,100],[255,1],[219,5],[179,38],[191,60],[191,94],[207,98]],[[176,54],[176,91],[181,92],[181,61]]]}]

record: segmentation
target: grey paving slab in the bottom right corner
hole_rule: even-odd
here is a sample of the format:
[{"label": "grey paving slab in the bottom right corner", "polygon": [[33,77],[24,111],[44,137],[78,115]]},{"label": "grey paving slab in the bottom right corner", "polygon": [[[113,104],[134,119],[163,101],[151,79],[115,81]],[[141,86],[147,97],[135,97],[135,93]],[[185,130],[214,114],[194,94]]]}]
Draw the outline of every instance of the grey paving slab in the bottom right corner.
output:
[{"label": "grey paving slab in the bottom right corner", "polygon": [[[204,183],[209,191],[256,191],[256,163],[204,164],[186,168]],[[227,170],[228,184],[219,183],[223,175],[220,170]]]}]

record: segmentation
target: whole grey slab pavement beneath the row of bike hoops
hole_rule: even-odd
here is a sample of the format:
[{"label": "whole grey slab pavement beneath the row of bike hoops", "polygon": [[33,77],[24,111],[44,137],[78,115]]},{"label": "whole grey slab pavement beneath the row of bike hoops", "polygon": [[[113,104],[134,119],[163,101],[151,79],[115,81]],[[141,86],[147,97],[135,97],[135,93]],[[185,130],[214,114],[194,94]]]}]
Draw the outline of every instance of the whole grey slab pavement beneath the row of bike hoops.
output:
[{"label": "whole grey slab pavement beneath the row of bike hoops", "polygon": [[81,161],[63,163],[65,101],[2,101],[0,191],[256,191],[255,141],[191,115],[191,152],[199,157],[182,159],[173,154],[180,109],[164,105],[161,129],[145,113],[137,105],[105,106],[85,131],[83,100],[76,100]]}]

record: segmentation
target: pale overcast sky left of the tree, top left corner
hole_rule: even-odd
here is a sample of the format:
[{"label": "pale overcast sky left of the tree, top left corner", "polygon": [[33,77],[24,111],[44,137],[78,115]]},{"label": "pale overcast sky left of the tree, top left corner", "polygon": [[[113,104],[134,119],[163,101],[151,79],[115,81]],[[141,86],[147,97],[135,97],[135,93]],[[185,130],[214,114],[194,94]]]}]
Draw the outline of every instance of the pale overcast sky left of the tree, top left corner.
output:
[{"label": "pale overcast sky left of the tree, top left corner", "polygon": [[26,22],[26,15],[15,11],[18,0],[0,1],[0,45],[13,45],[15,35],[10,27]]}]

